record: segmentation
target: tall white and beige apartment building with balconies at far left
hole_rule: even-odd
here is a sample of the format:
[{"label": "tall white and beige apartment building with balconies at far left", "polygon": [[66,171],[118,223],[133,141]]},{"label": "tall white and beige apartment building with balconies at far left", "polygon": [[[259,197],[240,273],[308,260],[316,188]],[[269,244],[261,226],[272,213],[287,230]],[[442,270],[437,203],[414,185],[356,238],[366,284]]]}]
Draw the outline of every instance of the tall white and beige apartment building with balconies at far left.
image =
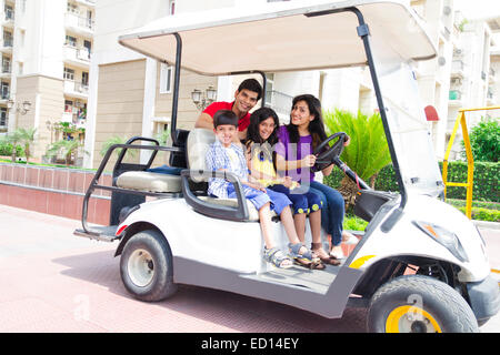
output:
[{"label": "tall white and beige apartment building with balconies at far left", "polygon": [[0,132],[36,128],[34,159],[52,128],[87,115],[96,0],[1,0]]}]

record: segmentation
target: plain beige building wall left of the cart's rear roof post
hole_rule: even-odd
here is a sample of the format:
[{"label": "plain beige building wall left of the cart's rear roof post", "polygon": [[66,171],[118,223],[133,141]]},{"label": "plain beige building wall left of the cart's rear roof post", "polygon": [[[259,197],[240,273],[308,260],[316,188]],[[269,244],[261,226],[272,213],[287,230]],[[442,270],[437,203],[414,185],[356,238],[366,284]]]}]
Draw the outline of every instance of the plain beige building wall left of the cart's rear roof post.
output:
[{"label": "plain beige building wall left of the cart's rear roof post", "polygon": [[103,142],[114,135],[129,139],[142,134],[144,70],[146,60],[99,67],[93,168],[102,160]]}]

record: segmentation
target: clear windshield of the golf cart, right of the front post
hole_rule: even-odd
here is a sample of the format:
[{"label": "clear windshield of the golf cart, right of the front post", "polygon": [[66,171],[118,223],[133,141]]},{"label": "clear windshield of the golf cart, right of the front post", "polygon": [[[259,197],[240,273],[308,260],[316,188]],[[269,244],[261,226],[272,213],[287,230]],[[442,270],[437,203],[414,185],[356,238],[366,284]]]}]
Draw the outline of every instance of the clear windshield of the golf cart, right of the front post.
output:
[{"label": "clear windshield of the golf cart, right of the front post", "polygon": [[442,178],[411,63],[384,39],[371,44],[402,182],[407,191],[437,196]]}]

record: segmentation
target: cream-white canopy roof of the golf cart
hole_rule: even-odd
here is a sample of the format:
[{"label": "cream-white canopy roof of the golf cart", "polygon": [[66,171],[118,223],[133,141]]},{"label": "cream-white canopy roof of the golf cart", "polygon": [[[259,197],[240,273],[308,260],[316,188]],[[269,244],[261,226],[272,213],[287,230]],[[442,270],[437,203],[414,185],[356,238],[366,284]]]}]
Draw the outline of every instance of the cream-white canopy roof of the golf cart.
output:
[{"label": "cream-white canopy roof of the golf cart", "polygon": [[352,12],[358,8],[373,37],[402,59],[426,60],[437,51],[408,1],[286,1],[180,13],[158,19],[119,38],[144,55],[173,64],[176,37],[182,40],[182,68],[208,75],[242,71],[299,71],[364,65],[363,43]]}]

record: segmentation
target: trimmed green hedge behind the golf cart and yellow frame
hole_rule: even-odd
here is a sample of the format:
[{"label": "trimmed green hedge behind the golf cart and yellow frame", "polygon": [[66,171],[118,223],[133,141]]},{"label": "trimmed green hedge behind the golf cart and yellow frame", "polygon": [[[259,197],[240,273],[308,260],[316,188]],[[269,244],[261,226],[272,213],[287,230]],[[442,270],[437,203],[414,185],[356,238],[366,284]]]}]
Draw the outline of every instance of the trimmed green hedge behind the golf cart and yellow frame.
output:
[{"label": "trimmed green hedge behind the golf cart and yellow frame", "polygon": [[[442,171],[442,162],[439,162],[439,166]],[[472,191],[472,200],[500,202],[500,193],[498,189],[499,176],[500,162],[474,162],[474,186]],[[330,176],[324,178],[324,183],[337,189],[342,178],[343,173],[339,169],[334,169]],[[449,162],[448,181],[467,182],[467,163],[461,161]],[[367,181],[367,183],[370,182]],[[380,191],[399,191],[392,164],[384,166],[379,172],[374,187]],[[466,200],[466,187],[447,187],[447,199]]]}]

